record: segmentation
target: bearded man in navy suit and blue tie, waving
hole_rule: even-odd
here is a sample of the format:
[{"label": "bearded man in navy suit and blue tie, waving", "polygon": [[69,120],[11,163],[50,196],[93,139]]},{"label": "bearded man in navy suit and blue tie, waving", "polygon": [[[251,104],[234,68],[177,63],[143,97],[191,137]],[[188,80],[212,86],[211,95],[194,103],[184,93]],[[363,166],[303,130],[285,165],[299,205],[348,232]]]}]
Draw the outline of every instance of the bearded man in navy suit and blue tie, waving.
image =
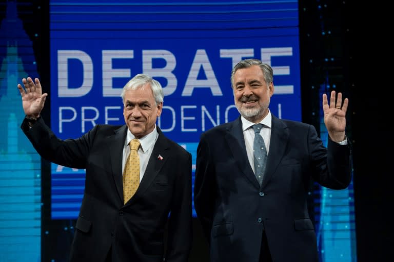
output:
[{"label": "bearded man in navy suit and blue tie, waving", "polygon": [[[273,72],[258,59],[231,72],[241,116],[211,128],[197,149],[194,207],[210,244],[211,262],[315,262],[317,239],[308,214],[310,179],[331,189],[351,180],[351,150],[345,136],[348,99],[323,95],[325,148],[312,125],[278,119],[269,111]],[[253,125],[260,125],[257,133]],[[258,126],[258,125],[257,125]],[[255,136],[266,149],[260,164]],[[257,164],[255,164],[255,162]],[[265,171],[260,170],[265,166]],[[263,168],[264,169],[264,168]]]}]

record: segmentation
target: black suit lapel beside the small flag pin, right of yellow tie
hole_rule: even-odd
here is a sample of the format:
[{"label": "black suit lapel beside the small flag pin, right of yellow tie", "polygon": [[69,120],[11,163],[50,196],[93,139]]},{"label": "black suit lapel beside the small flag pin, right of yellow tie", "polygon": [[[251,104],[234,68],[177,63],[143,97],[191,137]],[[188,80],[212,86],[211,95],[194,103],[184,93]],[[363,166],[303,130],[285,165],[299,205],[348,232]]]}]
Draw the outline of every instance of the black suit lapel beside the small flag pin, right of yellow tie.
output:
[{"label": "black suit lapel beside the small flag pin, right of yellow tie", "polygon": [[157,176],[159,171],[162,169],[166,161],[169,159],[169,145],[167,142],[167,138],[163,135],[160,128],[157,126],[157,133],[159,133],[159,137],[157,138],[156,143],[154,144],[152,154],[150,155],[148,165],[146,166],[146,170],[144,176],[141,180],[140,186],[135,192],[134,196],[130,199],[127,204],[130,204],[141,197],[144,192],[148,189],[149,185],[152,183],[154,178]]}]

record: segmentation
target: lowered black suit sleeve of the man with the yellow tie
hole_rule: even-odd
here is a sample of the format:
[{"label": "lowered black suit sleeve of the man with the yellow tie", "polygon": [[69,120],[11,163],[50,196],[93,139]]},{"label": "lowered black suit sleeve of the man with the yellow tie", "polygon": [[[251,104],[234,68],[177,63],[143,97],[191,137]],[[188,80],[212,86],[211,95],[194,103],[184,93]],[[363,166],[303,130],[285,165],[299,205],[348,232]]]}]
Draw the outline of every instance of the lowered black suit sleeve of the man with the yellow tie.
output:
[{"label": "lowered black suit sleeve of the man with the yellow tie", "polygon": [[168,224],[166,262],[187,262],[192,242],[191,154],[176,158],[177,176]]}]

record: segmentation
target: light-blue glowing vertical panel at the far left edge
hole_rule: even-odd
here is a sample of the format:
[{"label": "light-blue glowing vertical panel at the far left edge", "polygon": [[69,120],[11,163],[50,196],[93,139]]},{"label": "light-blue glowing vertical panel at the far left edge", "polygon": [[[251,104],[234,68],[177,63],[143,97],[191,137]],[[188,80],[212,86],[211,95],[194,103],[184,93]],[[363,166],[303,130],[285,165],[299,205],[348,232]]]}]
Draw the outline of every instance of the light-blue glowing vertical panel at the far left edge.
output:
[{"label": "light-blue glowing vertical panel at the far left edge", "polygon": [[[32,41],[16,2],[0,21],[0,261],[41,260],[41,161],[20,128],[25,117],[16,84],[37,76]],[[32,8],[32,6],[30,6]],[[29,9],[29,6],[27,6]]]}]

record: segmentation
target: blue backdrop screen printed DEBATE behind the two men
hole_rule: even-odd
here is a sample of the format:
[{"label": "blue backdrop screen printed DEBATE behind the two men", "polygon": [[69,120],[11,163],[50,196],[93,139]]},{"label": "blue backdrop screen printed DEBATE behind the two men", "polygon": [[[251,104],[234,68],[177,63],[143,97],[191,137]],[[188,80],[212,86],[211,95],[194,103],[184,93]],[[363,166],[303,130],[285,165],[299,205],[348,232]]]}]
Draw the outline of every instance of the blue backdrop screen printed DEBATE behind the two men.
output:
[{"label": "blue backdrop screen printed DEBATE behind the two men", "polygon": [[[123,85],[146,73],[164,88],[157,125],[192,154],[194,180],[201,133],[239,116],[231,69],[252,57],[274,70],[271,112],[301,120],[297,1],[51,1],[50,20],[51,123],[62,139],[124,124]],[[52,219],[77,217],[84,176],[52,164]]]}]

